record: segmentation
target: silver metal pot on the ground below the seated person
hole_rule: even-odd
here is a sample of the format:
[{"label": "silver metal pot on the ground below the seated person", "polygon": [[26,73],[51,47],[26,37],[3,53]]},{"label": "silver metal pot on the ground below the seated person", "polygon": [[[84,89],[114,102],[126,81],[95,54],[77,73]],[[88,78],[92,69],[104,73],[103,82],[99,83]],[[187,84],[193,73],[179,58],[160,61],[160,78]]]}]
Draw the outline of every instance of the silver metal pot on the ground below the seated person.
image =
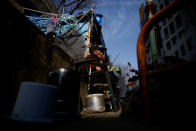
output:
[{"label": "silver metal pot on the ground below the seated person", "polygon": [[104,94],[91,94],[86,96],[86,110],[89,113],[105,111]]}]

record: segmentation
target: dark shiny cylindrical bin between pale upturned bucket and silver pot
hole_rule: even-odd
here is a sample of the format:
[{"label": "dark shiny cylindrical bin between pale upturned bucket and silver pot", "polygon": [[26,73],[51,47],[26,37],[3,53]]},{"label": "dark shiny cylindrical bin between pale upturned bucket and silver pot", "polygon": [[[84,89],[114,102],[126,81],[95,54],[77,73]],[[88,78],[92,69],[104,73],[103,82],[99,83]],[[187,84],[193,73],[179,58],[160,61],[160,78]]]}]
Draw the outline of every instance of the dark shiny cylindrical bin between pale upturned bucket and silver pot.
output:
[{"label": "dark shiny cylindrical bin between pale upturned bucket and silver pot", "polygon": [[80,77],[75,70],[56,68],[49,73],[49,84],[58,87],[57,118],[77,116],[80,96]]}]

